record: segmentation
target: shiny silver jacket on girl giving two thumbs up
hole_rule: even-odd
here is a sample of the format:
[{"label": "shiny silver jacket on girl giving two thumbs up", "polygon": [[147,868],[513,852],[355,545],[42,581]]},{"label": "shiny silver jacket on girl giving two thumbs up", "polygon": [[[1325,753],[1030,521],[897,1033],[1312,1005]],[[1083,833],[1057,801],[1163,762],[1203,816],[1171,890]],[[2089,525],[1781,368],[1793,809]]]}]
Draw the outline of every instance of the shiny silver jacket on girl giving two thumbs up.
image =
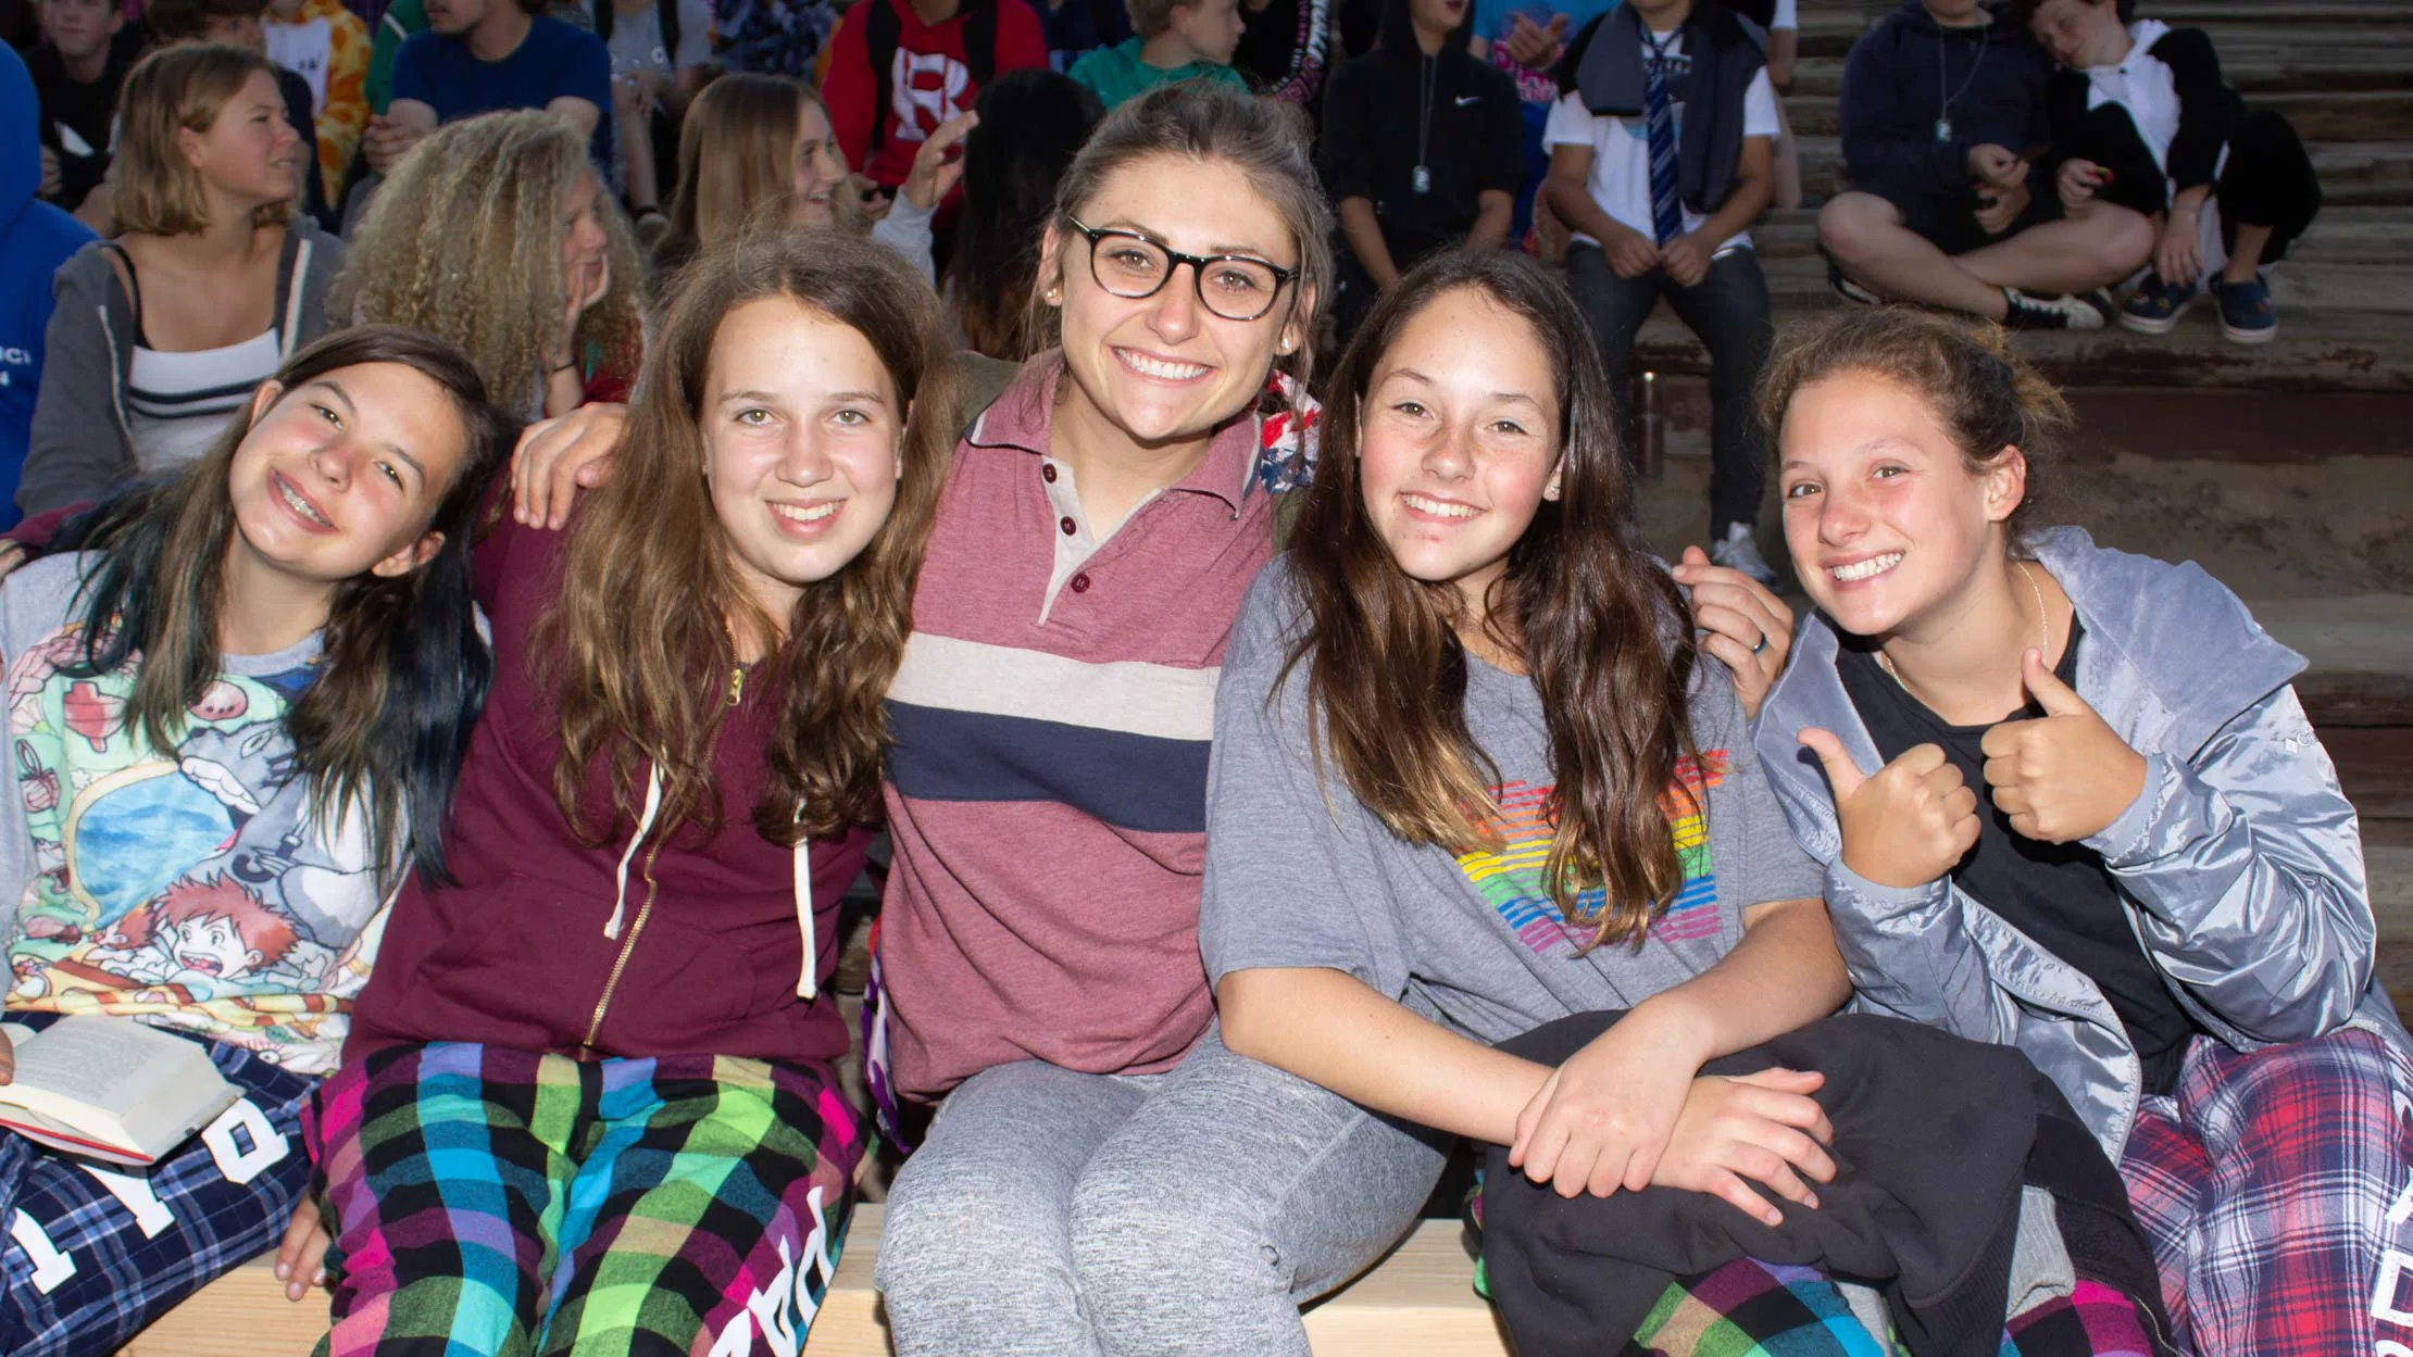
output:
[{"label": "shiny silver jacket on girl giving two thumbs up", "polygon": [[[2085,846],[2169,991],[2239,1051],[2341,1027],[2413,1046],[2374,976],[2355,807],[2290,687],[2304,658],[2193,562],[2131,557],[2075,528],[2034,552],[2085,624],[2078,694],[2145,754],[2145,791]],[[1795,733],[1834,730],[1863,769],[1885,759],[1834,663],[1836,634],[1812,612],[1754,742],[1793,836],[1827,863],[1853,1008],[2020,1046],[2119,1162],[2140,1065],[2094,981],[1950,877],[1894,889],[1844,865],[1827,774]]]}]

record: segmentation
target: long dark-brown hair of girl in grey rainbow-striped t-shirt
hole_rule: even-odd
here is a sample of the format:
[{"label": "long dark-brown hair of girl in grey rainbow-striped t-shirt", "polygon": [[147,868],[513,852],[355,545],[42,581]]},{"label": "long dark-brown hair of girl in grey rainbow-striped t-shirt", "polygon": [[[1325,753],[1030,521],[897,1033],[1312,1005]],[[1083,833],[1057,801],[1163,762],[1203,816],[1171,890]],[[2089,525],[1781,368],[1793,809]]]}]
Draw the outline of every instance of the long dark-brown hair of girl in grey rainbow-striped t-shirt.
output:
[{"label": "long dark-brown hair of girl in grey rainbow-striped t-shirt", "polygon": [[[1366,513],[1356,460],[1375,366],[1424,306],[1457,289],[1523,316],[1559,374],[1561,499],[1542,501],[1486,600],[1486,627],[1523,656],[1549,730],[1556,791],[1544,807],[1554,832],[1542,887],[1568,923],[1597,923],[1593,945],[1641,942],[1684,885],[1660,795],[1694,795],[1677,781],[1692,750],[1692,629],[1675,581],[1636,537],[1593,328],[1525,255],[1455,251],[1416,265],[1342,354],[1315,487],[1291,535],[1308,629],[1284,675],[1305,665],[1310,745],[1392,834],[1453,851],[1498,846],[1482,829],[1498,815],[1498,769],[1465,716],[1457,629],[1472,619],[1453,583],[1397,566]],[[1593,887],[1607,887],[1597,921],[1583,904]]]}]

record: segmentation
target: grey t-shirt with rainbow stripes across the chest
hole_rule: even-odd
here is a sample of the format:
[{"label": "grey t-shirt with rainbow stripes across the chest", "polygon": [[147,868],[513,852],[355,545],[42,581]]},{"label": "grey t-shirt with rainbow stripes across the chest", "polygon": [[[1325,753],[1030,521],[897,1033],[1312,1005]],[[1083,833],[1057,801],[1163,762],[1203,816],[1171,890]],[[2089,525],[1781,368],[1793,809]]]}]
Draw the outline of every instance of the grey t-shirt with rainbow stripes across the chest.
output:
[{"label": "grey t-shirt with rainbow stripes across the chest", "polygon": [[[1216,689],[1206,800],[1206,971],[1330,967],[1479,1041],[1556,1017],[1631,1008],[1718,962],[1742,911],[1819,894],[1745,733],[1733,680],[1704,658],[1692,685],[1699,754],[1658,788],[1684,865],[1641,947],[1583,950],[1542,889],[1554,776],[1532,680],[1470,660],[1467,730],[1498,766],[1491,846],[1419,848],[1383,827],[1305,742],[1305,670],[1274,694],[1298,607],[1289,559],[1257,576]],[[1274,694],[1274,701],[1267,701]],[[1330,766],[1330,762],[1325,764]],[[1600,901],[1590,892],[1585,901]]]}]

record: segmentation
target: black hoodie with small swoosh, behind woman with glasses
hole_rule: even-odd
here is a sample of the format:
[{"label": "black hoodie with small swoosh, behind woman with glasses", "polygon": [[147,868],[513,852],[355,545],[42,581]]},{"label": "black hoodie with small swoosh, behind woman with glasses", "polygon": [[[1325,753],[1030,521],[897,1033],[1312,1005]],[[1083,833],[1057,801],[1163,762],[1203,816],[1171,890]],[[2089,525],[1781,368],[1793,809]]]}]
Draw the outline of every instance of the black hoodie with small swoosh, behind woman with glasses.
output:
[{"label": "black hoodie with small swoosh, behind woman with glasses", "polygon": [[[1419,133],[1424,193],[1416,193]],[[1414,46],[1375,48],[1334,70],[1325,89],[1325,190],[1334,202],[1371,200],[1392,260],[1407,270],[1474,227],[1482,190],[1515,193],[1525,183],[1523,135],[1506,72],[1457,46],[1431,58]]]}]

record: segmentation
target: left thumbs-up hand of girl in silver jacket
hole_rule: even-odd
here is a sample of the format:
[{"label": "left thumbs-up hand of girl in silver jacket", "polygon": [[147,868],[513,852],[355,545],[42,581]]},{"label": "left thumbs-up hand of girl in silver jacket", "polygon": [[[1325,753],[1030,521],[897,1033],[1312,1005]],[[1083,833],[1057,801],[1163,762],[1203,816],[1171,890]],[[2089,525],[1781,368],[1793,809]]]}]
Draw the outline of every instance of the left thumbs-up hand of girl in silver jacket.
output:
[{"label": "left thumbs-up hand of girl in silver jacket", "polygon": [[1938,745],[1904,750],[1865,776],[1831,730],[1810,726],[1798,740],[1827,764],[1844,865],[1853,873],[1882,887],[1921,887],[1976,844],[1976,791]]}]

